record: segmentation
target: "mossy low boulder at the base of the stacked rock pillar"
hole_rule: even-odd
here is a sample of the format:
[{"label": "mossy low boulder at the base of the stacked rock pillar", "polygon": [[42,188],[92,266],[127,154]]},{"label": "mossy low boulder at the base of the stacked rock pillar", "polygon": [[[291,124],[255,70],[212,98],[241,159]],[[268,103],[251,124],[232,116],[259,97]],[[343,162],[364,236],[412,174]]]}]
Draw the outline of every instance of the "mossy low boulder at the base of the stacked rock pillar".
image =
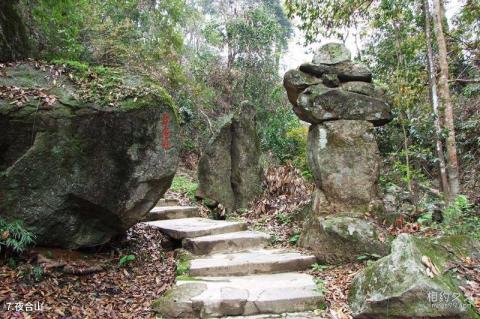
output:
[{"label": "mossy low boulder at the base of the stacked rock pillar", "polygon": [[312,217],[304,225],[299,244],[325,264],[355,262],[361,256],[378,258],[390,250],[388,234],[355,215]]}]

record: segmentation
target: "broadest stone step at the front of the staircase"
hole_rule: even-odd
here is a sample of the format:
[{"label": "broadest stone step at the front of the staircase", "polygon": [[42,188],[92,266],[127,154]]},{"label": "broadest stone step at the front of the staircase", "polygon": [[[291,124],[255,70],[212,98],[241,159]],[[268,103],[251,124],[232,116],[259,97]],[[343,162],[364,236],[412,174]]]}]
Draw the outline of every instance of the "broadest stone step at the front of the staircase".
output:
[{"label": "broadest stone step at the front of the staircase", "polygon": [[167,318],[211,318],[304,312],[324,306],[325,298],[312,276],[281,273],[179,280],[152,308]]}]

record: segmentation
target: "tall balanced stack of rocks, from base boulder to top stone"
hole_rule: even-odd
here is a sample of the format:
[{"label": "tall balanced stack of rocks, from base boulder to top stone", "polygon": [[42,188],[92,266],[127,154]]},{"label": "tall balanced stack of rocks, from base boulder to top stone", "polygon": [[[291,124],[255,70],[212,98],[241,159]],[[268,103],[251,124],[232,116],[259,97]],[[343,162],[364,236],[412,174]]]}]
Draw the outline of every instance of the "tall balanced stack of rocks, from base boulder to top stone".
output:
[{"label": "tall balanced stack of rocks, from base boulder to top stone", "polygon": [[299,243],[332,264],[389,252],[386,235],[362,215],[383,211],[373,129],[390,122],[392,114],[372,73],[350,58],[344,45],[326,44],[312,63],[284,76],[293,111],[311,123],[307,159],[316,190]]}]

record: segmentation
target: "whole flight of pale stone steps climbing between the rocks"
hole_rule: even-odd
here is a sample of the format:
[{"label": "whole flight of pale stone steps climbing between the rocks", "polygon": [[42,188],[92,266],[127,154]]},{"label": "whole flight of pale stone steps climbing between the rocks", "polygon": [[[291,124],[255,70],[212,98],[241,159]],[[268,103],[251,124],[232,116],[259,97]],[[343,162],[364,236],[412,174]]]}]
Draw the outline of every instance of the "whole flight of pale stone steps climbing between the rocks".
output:
[{"label": "whole flight of pale stone steps climbing between the rocks", "polygon": [[324,296],[299,272],[314,256],[268,248],[269,236],[243,222],[201,218],[195,207],[171,201],[160,202],[146,224],[181,241],[189,255],[182,257],[188,272],[152,307],[160,318],[319,318],[311,311],[324,307]]}]

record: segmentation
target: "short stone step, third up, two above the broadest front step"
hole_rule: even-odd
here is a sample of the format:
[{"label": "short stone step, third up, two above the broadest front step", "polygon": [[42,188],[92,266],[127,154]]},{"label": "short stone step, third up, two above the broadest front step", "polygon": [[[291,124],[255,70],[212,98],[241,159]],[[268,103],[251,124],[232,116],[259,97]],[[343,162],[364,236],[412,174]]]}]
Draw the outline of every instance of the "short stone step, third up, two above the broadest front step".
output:
[{"label": "short stone step, third up, two above the broadest front step", "polygon": [[234,252],[251,248],[263,248],[268,244],[269,235],[258,231],[241,231],[220,235],[186,238],[183,248],[195,255],[214,252]]}]

